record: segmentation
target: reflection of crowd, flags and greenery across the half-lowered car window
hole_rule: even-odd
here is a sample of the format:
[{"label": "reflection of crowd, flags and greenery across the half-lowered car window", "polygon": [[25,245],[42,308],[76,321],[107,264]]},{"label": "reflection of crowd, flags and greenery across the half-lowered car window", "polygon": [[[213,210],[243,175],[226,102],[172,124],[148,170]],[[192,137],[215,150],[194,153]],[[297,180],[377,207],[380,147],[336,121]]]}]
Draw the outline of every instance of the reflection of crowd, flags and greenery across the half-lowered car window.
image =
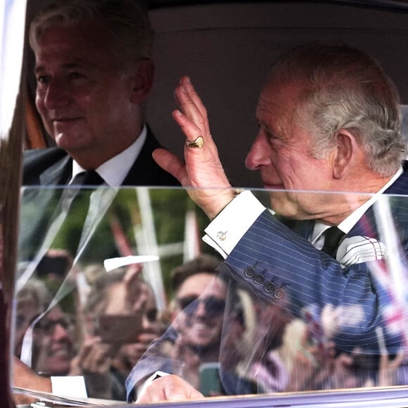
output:
[{"label": "reflection of crowd, flags and greenery across the half-lowered car window", "polygon": [[[253,193],[268,202],[267,192]],[[31,191],[30,200],[23,200],[22,217],[44,217],[41,207],[32,209],[32,197],[41,200],[42,194],[42,189]],[[134,255],[153,251],[144,238],[146,224],[134,189],[111,197],[77,253],[70,248],[75,223],[60,223],[51,241],[58,248],[47,248],[43,257],[37,255],[49,229],[37,235],[36,228],[30,241],[32,232],[22,227],[22,242],[37,249],[30,257],[27,248],[20,251],[15,355],[34,371],[83,376],[89,397],[120,401],[127,398],[129,373],[137,391],[156,370],[177,374],[208,396],[406,385],[407,244],[404,226],[395,221],[406,208],[405,197],[374,204],[377,238],[346,236],[336,260],[317,257],[307,244],[310,270],[274,279],[256,253],[241,269],[204,245],[199,253],[184,253],[185,237],[203,234],[204,215],[182,189],[153,189],[148,196],[160,258],[159,267],[155,262],[151,267],[165,288],[165,308],[152,275],[145,274],[146,264],[111,272],[103,267],[106,257],[124,254],[124,245]],[[191,216],[192,209],[196,222],[190,225],[196,227],[186,234],[186,212]],[[66,216],[69,220],[69,212]],[[113,217],[120,225],[117,236]],[[52,227],[53,221],[51,216],[46,223]],[[33,219],[31,224],[37,225]],[[292,250],[292,234],[283,251]],[[289,251],[285,261],[294,259]],[[362,293],[363,301],[352,295],[341,301],[326,297],[323,289],[335,283],[312,273],[321,262],[328,272],[334,264],[340,267],[342,279],[351,279],[352,293]],[[32,276],[22,284],[30,269]],[[366,274],[368,279],[362,279]],[[307,276],[316,279],[309,286],[291,281]],[[365,296],[374,296],[376,303]]]}]

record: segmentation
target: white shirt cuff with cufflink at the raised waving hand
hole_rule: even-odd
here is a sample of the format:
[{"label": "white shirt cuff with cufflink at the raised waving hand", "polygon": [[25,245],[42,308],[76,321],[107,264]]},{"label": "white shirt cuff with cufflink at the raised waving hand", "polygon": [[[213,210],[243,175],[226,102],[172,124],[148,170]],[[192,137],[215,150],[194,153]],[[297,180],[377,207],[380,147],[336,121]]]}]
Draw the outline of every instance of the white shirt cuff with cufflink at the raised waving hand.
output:
[{"label": "white shirt cuff with cufflink at the raised waving hand", "polygon": [[203,241],[225,259],[264,210],[253,193],[243,191],[212,220]]}]

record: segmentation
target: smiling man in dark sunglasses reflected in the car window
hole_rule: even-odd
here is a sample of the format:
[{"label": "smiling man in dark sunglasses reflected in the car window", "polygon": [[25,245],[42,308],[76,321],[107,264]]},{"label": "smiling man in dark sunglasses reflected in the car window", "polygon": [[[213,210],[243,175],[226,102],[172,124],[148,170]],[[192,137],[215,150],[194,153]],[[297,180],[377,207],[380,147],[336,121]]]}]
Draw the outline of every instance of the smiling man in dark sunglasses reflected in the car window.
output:
[{"label": "smiling man in dark sunglasses reflected in the car window", "polygon": [[[246,321],[240,295],[217,274],[219,262],[203,254],[172,270],[172,325],[139,361],[138,394],[155,376],[174,372],[205,395],[226,394],[219,381],[219,350],[228,342],[232,354],[239,352]],[[228,376],[238,374],[233,370]]]}]

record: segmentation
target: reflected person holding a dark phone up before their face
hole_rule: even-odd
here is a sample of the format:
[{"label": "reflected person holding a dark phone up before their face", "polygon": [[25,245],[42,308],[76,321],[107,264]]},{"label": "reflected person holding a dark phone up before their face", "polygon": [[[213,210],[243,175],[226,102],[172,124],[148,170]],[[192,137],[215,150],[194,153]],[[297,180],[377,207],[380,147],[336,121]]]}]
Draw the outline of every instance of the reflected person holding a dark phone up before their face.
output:
[{"label": "reflected person holding a dark phone up before their face", "polygon": [[[125,378],[148,345],[165,330],[151,287],[141,269],[98,265],[87,279],[84,335],[72,360],[70,376],[84,376],[88,397],[125,400]],[[89,274],[87,274],[87,278]]]}]

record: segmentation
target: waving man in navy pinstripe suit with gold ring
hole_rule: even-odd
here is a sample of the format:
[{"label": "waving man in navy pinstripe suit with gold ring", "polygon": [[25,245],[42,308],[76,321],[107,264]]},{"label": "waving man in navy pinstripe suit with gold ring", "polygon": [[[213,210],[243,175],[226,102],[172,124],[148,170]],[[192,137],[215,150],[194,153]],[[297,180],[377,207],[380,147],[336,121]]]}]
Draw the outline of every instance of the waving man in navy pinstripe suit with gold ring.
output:
[{"label": "waving man in navy pinstripe suit with gold ring", "polygon": [[[225,258],[221,272],[265,307],[272,303],[296,319],[316,318],[314,336],[330,336],[337,353],[362,350],[375,365],[384,352],[397,352],[404,329],[388,324],[393,292],[384,276],[395,267],[404,270],[408,212],[403,202],[391,205],[382,198],[406,193],[408,171],[402,167],[397,90],[380,65],[350,46],[317,43],[289,51],[269,71],[256,111],[260,131],[246,166],[260,171],[272,209],[291,229],[250,192],[234,194],[189,78],[181,79],[175,95],[180,109],[173,117],[186,134],[185,162],[164,150],[153,157],[184,186],[202,189],[191,198],[212,220],[204,240]],[[402,231],[398,245],[383,234],[384,225],[385,231]],[[340,241],[331,242],[329,229]],[[325,308],[343,311],[341,319],[324,326]],[[256,344],[267,367],[267,345]],[[220,352],[222,364],[227,351]],[[142,379],[136,365],[128,392]],[[239,393],[238,383],[225,385]],[[180,397],[200,395],[181,378],[165,376],[138,401]]]}]

